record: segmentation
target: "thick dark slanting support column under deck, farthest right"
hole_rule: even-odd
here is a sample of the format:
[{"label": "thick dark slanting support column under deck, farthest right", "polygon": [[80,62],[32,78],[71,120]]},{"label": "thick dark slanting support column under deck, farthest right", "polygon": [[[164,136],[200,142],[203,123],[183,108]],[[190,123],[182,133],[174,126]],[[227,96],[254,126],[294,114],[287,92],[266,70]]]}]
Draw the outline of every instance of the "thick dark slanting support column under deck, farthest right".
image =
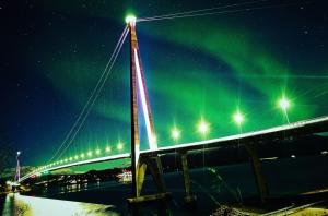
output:
[{"label": "thick dark slanting support column under deck, farthest right", "polygon": [[257,184],[257,190],[260,196],[260,201],[262,203],[266,202],[267,197],[269,196],[269,190],[268,184],[266,182],[265,176],[262,173],[262,166],[259,160],[259,157],[257,155],[256,148],[251,144],[245,145],[246,151],[248,152],[250,159],[251,159],[251,166],[255,175],[255,180]]}]

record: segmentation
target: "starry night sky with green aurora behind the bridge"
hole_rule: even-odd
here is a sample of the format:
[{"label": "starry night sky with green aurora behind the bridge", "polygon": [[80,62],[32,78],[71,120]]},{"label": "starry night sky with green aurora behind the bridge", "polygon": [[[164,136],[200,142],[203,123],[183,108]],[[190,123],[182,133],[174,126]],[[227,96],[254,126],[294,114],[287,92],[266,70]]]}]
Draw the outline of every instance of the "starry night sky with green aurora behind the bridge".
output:
[{"label": "starry night sky with green aurora behind the bridge", "polygon": [[[0,134],[24,165],[49,160],[86,103],[129,13],[138,17],[244,1],[0,1]],[[328,4],[259,1],[259,10],[137,23],[160,146],[328,115]],[[226,9],[222,9],[225,11]],[[233,10],[231,8],[230,10]],[[129,43],[65,157],[118,142],[129,152]],[[202,137],[200,119],[210,123]],[[142,125],[143,127],[143,125]],[[142,148],[147,147],[141,130]],[[1,143],[0,143],[1,144]],[[63,158],[65,158],[63,157]]]}]

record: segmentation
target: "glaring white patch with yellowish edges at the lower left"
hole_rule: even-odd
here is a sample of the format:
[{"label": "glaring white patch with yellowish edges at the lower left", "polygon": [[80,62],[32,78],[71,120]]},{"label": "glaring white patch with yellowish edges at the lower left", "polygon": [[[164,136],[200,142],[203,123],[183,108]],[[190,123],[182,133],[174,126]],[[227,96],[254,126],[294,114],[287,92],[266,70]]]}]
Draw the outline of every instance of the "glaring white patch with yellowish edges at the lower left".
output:
[{"label": "glaring white patch with yellowish edges at the lower left", "polygon": [[60,201],[44,197],[33,197],[10,193],[3,206],[3,216],[44,216],[44,215],[119,215],[113,212],[112,205]]}]

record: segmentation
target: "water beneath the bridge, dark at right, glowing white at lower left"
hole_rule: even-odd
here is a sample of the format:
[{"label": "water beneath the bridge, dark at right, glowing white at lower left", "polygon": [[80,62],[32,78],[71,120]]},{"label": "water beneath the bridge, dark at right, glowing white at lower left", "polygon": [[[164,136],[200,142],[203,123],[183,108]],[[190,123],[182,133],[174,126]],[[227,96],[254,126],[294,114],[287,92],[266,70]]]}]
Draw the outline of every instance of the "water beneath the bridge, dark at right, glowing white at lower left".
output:
[{"label": "water beneath the bridge, dark at right, glowing white at lower left", "polygon": [[[263,172],[273,196],[284,194],[298,194],[302,192],[327,188],[328,157],[302,157],[262,163]],[[257,188],[250,164],[238,164],[221,167],[207,167],[190,169],[191,189],[197,195],[197,215],[210,215],[223,203],[241,202],[247,197],[257,195]],[[172,192],[169,202],[173,215],[189,215],[184,207],[184,179],[180,171],[164,175],[167,190]],[[152,194],[156,188],[148,177],[142,194]],[[67,187],[45,188],[30,195],[47,199],[36,199],[23,195],[8,195],[4,201],[4,215],[13,215],[14,209],[27,206],[22,215],[43,215],[42,208],[49,207],[56,215],[129,215],[126,199],[131,196],[131,184],[122,184],[115,181],[92,184],[72,184]],[[49,200],[55,199],[55,200]],[[58,201],[66,200],[66,201]],[[82,203],[77,203],[77,202]],[[97,203],[99,205],[92,205]],[[0,204],[1,205],[1,204]],[[31,208],[31,209],[30,209]],[[145,207],[145,215],[155,215],[156,206]],[[56,211],[60,214],[57,214]],[[40,213],[40,214],[39,214]],[[49,215],[49,214],[48,214]]]}]

